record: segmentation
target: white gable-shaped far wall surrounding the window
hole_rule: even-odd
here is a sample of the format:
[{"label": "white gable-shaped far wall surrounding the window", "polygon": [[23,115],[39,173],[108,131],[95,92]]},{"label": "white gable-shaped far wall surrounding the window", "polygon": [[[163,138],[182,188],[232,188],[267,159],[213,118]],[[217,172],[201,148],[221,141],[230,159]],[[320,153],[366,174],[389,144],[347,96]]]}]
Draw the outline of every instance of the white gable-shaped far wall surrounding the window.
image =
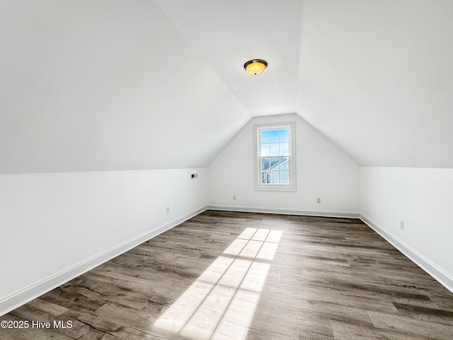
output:
[{"label": "white gable-shaped far wall surrounding the window", "polygon": [[[253,125],[287,122],[296,122],[297,191],[256,191]],[[213,208],[321,214],[356,213],[359,209],[359,165],[297,115],[251,119],[214,158],[207,172],[208,202]],[[316,203],[318,197],[321,204]]]}]

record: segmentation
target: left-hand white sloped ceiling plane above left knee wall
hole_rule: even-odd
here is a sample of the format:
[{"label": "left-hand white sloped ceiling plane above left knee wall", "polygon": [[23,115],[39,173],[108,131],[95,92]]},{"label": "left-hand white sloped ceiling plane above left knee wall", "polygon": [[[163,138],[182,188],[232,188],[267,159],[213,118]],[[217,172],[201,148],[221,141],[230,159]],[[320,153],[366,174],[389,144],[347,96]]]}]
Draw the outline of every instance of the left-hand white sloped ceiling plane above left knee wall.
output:
[{"label": "left-hand white sloped ceiling plane above left knee wall", "polygon": [[251,118],[154,1],[0,1],[0,172],[206,166]]}]

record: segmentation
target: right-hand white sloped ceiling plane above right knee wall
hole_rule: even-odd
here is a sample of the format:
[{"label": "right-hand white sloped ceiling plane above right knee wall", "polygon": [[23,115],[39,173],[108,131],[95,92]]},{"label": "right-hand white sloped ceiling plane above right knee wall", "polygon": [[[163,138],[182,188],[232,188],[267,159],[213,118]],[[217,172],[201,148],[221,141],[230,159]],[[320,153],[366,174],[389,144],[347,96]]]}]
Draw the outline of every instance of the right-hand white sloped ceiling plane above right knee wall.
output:
[{"label": "right-hand white sloped ceiling plane above right knee wall", "polygon": [[453,1],[304,1],[297,113],[362,165],[453,168]]}]

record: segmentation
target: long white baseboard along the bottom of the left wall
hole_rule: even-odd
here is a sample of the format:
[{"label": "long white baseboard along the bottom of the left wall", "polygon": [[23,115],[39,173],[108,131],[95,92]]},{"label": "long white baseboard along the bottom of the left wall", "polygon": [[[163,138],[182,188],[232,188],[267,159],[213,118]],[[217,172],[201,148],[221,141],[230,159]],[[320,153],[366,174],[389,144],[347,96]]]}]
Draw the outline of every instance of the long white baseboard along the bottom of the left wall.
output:
[{"label": "long white baseboard along the bottom of the left wall", "polygon": [[154,238],[161,233],[164,233],[164,231],[169,230],[176,225],[183,223],[184,221],[187,221],[189,218],[193,218],[193,216],[196,216],[205,210],[207,210],[207,206],[202,206],[195,211],[187,213],[183,216],[179,216],[178,218],[168,221],[167,223],[159,225],[157,228],[149,230],[147,233],[123,242],[122,244],[110,248],[109,250],[106,250],[101,254],[97,254],[96,256],[86,259],[83,262],[64,269],[63,271],[60,271],[59,273],[50,276],[47,279],[43,279],[42,281],[28,286],[21,291],[2,298],[0,300],[0,316],[6,314],[7,312],[11,312],[11,310],[20,307],[25,303],[28,303],[30,300],[38,298],[40,295],[45,294],[48,291],[52,291],[52,289],[55,289],[58,286],[61,286],[63,283],[67,283],[77,276],[86,273],[86,271],[89,271],[124,252],[127,252],[127,250],[131,250],[133,247],[141,245],[143,242],[150,240],[151,238]]}]

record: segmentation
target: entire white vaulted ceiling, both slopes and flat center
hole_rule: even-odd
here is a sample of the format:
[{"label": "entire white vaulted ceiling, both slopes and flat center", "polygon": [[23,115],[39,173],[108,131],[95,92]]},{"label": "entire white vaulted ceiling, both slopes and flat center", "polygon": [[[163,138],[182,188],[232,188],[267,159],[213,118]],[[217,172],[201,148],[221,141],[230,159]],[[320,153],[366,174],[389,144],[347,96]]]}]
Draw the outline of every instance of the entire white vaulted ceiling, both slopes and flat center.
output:
[{"label": "entire white vaulted ceiling, both slopes and flat center", "polygon": [[452,18],[449,0],[3,0],[0,173],[203,167],[291,112],[361,165],[453,168]]}]

